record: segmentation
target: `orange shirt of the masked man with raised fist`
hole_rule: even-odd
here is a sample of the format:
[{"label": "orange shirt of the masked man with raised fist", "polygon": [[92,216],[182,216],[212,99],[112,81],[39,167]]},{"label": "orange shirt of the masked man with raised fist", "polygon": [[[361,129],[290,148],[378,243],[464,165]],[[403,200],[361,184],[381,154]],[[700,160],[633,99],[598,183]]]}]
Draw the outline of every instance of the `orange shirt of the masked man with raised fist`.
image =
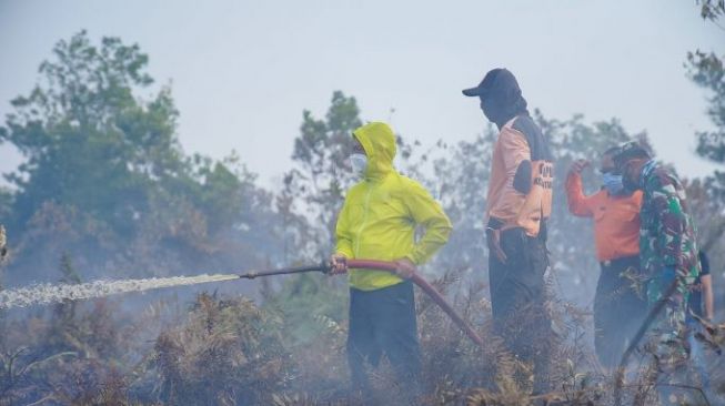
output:
[{"label": "orange shirt of the masked man with raised fist", "polygon": [[585,196],[582,176],[572,172],[566,177],[566,201],[572,214],[594,217],[596,257],[600,261],[640,255],[641,191],[612,196],[606,190],[601,190]]}]

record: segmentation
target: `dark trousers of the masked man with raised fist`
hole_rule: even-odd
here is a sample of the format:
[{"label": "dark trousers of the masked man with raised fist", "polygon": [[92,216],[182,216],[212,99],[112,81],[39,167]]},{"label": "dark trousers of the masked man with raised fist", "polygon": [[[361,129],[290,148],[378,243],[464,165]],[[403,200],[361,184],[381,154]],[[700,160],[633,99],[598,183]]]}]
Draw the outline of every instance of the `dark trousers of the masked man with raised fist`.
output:
[{"label": "dark trousers of the masked man with raised fist", "polygon": [[600,363],[612,368],[644,321],[647,302],[625,276],[640,274],[638,255],[607,261],[601,267],[594,296],[594,347]]}]

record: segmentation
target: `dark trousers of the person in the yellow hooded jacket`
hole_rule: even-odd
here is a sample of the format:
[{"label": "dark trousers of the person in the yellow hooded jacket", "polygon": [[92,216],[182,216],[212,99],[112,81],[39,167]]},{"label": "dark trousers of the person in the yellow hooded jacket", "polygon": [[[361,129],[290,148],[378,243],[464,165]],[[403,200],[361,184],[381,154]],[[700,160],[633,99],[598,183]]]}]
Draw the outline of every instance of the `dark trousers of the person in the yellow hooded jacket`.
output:
[{"label": "dark trousers of the person in the yellow hooded jacket", "polygon": [[405,390],[420,390],[421,349],[411,282],[375,290],[350,290],[348,363],[354,390],[370,393],[365,363],[376,367],[382,355],[390,361]]}]

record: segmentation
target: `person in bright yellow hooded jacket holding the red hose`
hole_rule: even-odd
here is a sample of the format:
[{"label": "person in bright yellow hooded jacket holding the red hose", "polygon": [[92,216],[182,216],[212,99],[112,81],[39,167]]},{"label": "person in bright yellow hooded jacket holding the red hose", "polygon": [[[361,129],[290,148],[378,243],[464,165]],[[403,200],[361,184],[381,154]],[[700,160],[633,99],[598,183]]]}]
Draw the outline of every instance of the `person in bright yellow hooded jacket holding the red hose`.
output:
[{"label": "person in bright yellow hooded jacket holding the red hose", "polygon": [[[447,242],[451,222],[417,182],[393,168],[395,135],[385,123],[353,131],[350,162],[361,181],[348,191],[338,217],[332,273],[349,271],[348,362],[353,390],[370,393],[365,363],[377,366],[384,354],[401,387],[420,390],[420,346],[413,284],[406,278]],[[425,233],[416,241],[416,227]],[[346,258],[394,261],[397,275],[348,270]]]}]

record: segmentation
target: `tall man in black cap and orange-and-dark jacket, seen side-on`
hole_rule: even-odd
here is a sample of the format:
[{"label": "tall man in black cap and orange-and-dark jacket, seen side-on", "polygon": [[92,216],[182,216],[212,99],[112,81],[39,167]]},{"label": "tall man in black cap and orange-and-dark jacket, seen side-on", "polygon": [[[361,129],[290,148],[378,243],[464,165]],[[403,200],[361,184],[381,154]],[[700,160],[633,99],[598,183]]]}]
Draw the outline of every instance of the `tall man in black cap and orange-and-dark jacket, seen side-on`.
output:
[{"label": "tall man in black cap and orange-and-dark jacket, seen side-on", "polygon": [[486,197],[493,327],[514,356],[533,364],[534,392],[546,393],[555,338],[544,276],[553,154],[511,71],[493,69],[463,94],[477,98],[485,118],[499,128]]}]

